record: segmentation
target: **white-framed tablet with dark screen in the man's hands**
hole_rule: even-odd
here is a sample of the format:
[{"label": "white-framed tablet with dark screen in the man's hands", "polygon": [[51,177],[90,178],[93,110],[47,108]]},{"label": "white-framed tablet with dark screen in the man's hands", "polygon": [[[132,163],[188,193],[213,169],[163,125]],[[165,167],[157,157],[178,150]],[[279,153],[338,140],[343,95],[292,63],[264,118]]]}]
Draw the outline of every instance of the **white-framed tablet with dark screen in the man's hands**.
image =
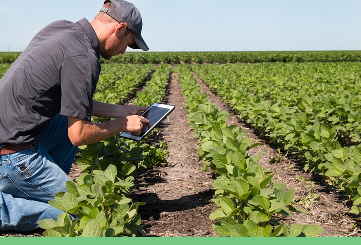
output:
[{"label": "white-framed tablet with dark screen in the man's hands", "polygon": [[120,137],[141,141],[144,139],[151,130],[158,126],[158,124],[174,110],[174,105],[166,105],[154,103],[149,108],[142,113],[142,117],[148,119],[149,123],[143,123],[143,129],[140,135],[133,135],[132,133],[123,132],[120,134]]}]

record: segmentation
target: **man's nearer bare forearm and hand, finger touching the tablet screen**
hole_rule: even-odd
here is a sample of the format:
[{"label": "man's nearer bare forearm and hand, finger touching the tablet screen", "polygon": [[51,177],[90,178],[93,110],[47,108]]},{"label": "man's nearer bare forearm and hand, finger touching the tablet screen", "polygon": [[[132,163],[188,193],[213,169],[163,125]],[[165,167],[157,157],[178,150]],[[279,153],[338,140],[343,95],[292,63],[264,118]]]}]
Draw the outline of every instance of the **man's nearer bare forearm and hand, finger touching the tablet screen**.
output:
[{"label": "man's nearer bare forearm and hand, finger touching the tablet screen", "polygon": [[68,117],[68,135],[73,145],[87,145],[105,140],[121,131],[140,135],[143,122],[148,123],[149,121],[138,115],[122,117],[105,123],[93,123]]}]

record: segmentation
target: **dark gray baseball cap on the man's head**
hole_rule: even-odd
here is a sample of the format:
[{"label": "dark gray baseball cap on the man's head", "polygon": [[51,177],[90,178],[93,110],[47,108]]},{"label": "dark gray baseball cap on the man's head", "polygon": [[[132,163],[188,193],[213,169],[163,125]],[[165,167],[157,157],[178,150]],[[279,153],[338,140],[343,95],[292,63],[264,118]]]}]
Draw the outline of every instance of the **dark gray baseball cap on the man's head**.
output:
[{"label": "dark gray baseball cap on the man's head", "polygon": [[111,3],[111,7],[109,9],[102,7],[100,11],[108,14],[119,23],[124,22],[127,24],[127,27],[133,32],[134,39],[136,40],[135,44],[129,45],[128,47],[148,51],[149,48],[141,35],[143,27],[142,16],[136,6],[120,0],[105,0],[104,4],[109,2]]}]

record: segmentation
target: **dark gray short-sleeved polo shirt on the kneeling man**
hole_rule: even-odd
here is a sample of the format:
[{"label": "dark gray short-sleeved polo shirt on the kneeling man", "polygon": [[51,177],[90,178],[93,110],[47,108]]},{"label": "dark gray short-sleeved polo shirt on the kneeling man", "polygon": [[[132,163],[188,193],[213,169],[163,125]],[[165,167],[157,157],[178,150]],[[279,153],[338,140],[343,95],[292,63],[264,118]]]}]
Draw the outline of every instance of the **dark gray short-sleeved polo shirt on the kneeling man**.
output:
[{"label": "dark gray short-sleeved polo shirt on the kneeling man", "polygon": [[0,145],[35,143],[59,112],[90,121],[99,60],[99,40],[85,18],[37,33],[0,80]]}]

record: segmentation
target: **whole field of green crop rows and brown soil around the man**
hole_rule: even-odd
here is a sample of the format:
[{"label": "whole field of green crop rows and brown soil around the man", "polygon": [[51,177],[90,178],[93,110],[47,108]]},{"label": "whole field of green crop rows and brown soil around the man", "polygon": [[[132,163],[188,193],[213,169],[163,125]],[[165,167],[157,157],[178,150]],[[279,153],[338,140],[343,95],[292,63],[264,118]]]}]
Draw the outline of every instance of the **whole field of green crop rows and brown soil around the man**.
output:
[{"label": "whole field of green crop rows and brown soil around the man", "polygon": [[82,218],[22,235],[360,236],[360,80],[358,51],[102,61],[97,100],[176,109],[144,142],[80,147],[51,205]]}]

